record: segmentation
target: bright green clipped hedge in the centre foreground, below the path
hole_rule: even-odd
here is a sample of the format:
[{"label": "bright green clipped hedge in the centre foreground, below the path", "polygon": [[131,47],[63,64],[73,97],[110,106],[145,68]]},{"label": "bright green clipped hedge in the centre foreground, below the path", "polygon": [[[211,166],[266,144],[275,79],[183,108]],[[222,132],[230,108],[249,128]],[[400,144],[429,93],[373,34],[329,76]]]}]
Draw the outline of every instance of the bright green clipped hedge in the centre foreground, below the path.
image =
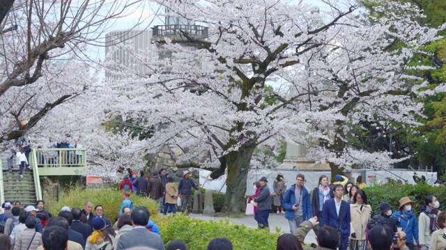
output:
[{"label": "bright green clipped hedge in the centre foreground, below the path", "polygon": [[249,228],[245,225],[230,224],[229,220],[202,221],[184,216],[157,217],[155,223],[160,228],[164,244],[183,240],[187,249],[206,250],[210,240],[228,238],[233,249],[276,249],[278,233]]}]

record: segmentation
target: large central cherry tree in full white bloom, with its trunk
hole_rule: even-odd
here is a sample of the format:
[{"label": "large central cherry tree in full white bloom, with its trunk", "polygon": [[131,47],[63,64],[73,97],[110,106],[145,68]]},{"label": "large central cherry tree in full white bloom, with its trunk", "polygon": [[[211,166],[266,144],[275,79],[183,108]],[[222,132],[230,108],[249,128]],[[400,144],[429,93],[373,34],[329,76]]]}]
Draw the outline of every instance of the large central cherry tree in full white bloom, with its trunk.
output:
[{"label": "large central cherry tree in full white bloom, with its trunk", "polygon": [[[217,172],[226,169],[230,213],[243,210],[259,145],[303,144],[308,158],[330,163],[334,173],[355,164],[389,167],[387,153],[351,147],[347,136],[364,120],[417,126],[422,103],[415,97],[444,87],[427,90],[406,74],[408,62],[437,30],[417,24],[420,10],[408,4],[376,1],[386,15],[369,22],[356,1],[321,2],[327,8],[280,0],[159,1],[169,15],[208,27],[208,38],[178,28],[185,44],[169,38],[157,44],[157,53],[170,51],[171,58],[121,44],[116,49],[132,55],[129,67],[112,60],[112,49],[107,66],[120,77],[99,86],[96,101],[123,121],[156,126],[145,140],[149,151],[166,144],[208,150],[201,167],[217,162]],[[395,42],[406,46],[391,50]],[[139,71],[141,65],[150,70]]]}]

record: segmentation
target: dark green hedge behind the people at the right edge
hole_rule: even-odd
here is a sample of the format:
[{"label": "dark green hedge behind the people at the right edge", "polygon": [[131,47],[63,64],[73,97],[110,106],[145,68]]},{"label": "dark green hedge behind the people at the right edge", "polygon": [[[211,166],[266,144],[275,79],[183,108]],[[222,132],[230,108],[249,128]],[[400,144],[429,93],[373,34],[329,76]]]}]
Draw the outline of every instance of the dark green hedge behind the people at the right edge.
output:
[{"label": "dark green hedge behind the people at the right edge", "polygon": [[380,213],[380,203],[386,201],[390,203],[392,210],[396,211],[399,207],[399,199],[409,197],[416,203],[415,208],[412,208],[413,212],[419,215],[420,209],[424,205],[424,198],[428,195],[437,197],[438,201],[440,201],[440,210],[444,211],[446,209],[445,187],[433,187],[424,183],[417,185],[391,183],[388,185],[374,185],[364,188],[364,192],[367,194],[368,203],[376,214]]}]

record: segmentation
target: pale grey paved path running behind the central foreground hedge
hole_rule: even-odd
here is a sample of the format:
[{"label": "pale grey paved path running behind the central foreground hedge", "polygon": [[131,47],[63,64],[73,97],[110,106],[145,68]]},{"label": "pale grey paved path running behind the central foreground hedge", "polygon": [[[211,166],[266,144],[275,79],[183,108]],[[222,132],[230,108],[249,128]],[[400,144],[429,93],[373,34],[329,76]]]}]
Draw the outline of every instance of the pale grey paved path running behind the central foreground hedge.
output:
[{"label": "pale grey paved path running behind the central foreground hedge", "polygon": [[[189,217],[194,219],[203,219],[203,220],[211,220],[211,219],[226,219],[222,217],[210,217],[202,214],[190,214]],[[229,222],[235,223],[235,224],[243,224],[245,226],[249,226],[252,228],[257,228],[257,222],[254,220],[254,216],[243,216],[240,218],[228,218]],[[288,223],[288,219],[285,219],[284,214],[277,215],[277,214],[270,214],[270,218],[268,219],[268,222],[270,224],[270,231],[275,233],[276,232],[276,226],[277,228],[280,228],[281,233],[289,233],[290,226]],[[316,238],[314,237],[314,231],[309,231],[307,234],[307,237],[305,237],[305,243],[306,244],[317,244]]]}]

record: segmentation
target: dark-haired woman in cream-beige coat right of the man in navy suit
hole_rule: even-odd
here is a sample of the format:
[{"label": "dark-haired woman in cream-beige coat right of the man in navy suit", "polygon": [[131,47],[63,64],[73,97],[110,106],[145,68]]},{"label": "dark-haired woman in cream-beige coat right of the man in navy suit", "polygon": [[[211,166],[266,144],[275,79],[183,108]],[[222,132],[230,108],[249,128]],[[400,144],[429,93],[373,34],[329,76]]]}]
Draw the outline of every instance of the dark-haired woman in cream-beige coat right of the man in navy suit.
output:
[{"label": "dark-haired woman in cream-beige coat right of the man in navy suit", "polygon": [[365,250],[366,228],[370,220],[371,206],[367,204],[367,195],[364,190],[357,190],[353,197],[354,203],[350,205],[351,224],[350,224],[350,241],[349,249]]}]

